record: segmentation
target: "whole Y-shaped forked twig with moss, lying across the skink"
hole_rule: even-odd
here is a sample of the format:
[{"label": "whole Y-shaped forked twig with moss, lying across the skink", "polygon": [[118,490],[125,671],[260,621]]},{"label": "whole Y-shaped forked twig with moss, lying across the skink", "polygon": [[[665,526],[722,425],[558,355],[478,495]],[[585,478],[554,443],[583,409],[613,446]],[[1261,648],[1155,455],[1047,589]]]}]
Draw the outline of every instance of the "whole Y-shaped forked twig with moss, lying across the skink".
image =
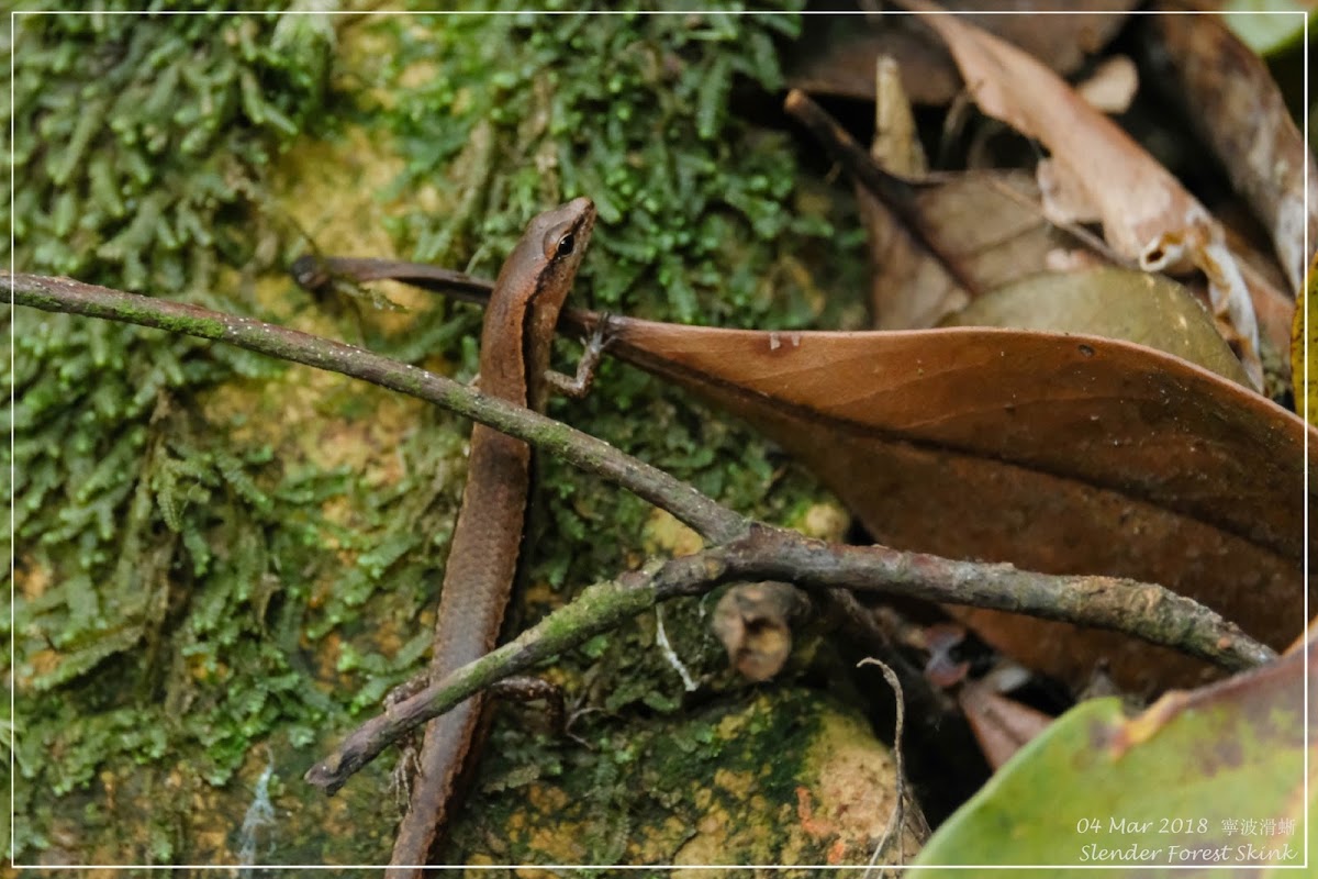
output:
[{"label": "whole Y-shaped forked twig with moss, lying across the skink", "polygon": [[327,791],[337,789],[398,735],[482,687],[608,631],[659,601],[708,592],[731,580],[786,580],[807,589],[883,592],[1029,614],[1122,631],[1230,669],[1248,668],[1275,656],[1217,613],[1159,585],[1032,573],[1007,564],[954,561],[879,546],[829,544],[751,522],[600,439],[355,345],[69,278],[0,273],[0,287],[11,293],[16,304],[225,341],[418,397],[613,481],[670,511],[710,544],[696,555],[590,586],[511,643],[369,721],[335,755],[308,772],[308,781]]}]

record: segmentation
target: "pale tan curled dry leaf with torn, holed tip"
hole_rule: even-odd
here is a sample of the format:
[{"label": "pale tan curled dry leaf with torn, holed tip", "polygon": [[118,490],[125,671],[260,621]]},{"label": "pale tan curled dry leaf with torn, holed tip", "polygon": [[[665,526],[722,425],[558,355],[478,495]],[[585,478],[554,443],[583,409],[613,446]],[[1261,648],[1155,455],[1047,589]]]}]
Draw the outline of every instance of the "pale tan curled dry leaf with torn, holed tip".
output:
[{"label": "pale tan curled dry leaf with torn, holed tip", "polygon": [[1259,328],[1249,291],[1222,228],[1177,179],[1115,123],[1043,63],[927,0],[903,0],[948,43],[979,108],[1052,153],[1050,181],[1082,198],[1107,242],[1147,271],[1202,270],[1214,312],[1234,327],[1240,358],[1263,387]]}]

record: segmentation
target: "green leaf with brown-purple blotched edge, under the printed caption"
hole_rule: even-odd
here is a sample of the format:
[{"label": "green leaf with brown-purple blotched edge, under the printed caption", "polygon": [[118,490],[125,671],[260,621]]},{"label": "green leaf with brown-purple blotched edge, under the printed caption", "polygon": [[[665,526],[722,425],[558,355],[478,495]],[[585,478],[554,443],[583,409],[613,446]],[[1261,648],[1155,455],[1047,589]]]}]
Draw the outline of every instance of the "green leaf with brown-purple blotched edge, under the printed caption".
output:
[{"label": "green leaf with brown-purple blotched edge, under the printed caption", "polygon": [[1318,760],[1306,760],[1318,756],[1305,718],[1318,651],[1307,647],[1135,718],[1116,698],[1078,705],[938,828],[915,861],[931,867],[920,875],[963,875],[942,865],[1293,875],[1318,805],[1306,783],[1318,780]]}]

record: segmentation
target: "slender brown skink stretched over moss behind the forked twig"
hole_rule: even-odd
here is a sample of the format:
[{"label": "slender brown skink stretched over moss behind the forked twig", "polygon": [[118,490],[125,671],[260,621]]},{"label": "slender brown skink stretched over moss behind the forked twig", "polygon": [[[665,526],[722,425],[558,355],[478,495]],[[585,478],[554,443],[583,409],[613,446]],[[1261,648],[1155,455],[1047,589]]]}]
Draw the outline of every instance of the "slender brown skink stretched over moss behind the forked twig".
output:
[{"label": "slender brown skink stretched over moss behind the forked twig", "polygon": [[[594,204],[576,199],[531,220],[503,262],[481,331],[480,387],[544,410],[546,374],[559,310],[594,227]],[[453,527],[435,622],[430,673],[442,677],[493,650],[517,572],[531,481],[531,449],[477,424],[463,505]],[[472,697],[426,726],[420,772],[394,842],[390,879],[427,863],[464,764],[473,751],[482,700]]]}]

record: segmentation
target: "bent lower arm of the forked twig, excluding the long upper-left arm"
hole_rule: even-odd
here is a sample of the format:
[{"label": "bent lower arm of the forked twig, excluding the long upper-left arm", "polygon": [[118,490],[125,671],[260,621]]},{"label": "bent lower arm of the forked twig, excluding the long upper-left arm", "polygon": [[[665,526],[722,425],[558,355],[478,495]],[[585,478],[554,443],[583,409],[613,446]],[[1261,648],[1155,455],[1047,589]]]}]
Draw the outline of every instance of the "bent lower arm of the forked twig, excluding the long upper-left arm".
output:
[{"label": "bent lower arm of the forked twig, excluding the long upper-left arm", "polygon": [[576,601],[511,642],[362,723],[333,754],[312,766],[306,779],[333,793],[391,742],[494,681],[609,631],[660,601],[702,594],[738,580],[789,580],[812,590],[909,596],[1066,622],[1083,618],[1082,625],[1174,646],[1231,669],[1276,656],[1203,605],[1162,586],[1118,577],[1032,573],[1010,564],[954,561],[882,546],[838,546],[753,523],[745,536],[722,546],[587,588]]}]

